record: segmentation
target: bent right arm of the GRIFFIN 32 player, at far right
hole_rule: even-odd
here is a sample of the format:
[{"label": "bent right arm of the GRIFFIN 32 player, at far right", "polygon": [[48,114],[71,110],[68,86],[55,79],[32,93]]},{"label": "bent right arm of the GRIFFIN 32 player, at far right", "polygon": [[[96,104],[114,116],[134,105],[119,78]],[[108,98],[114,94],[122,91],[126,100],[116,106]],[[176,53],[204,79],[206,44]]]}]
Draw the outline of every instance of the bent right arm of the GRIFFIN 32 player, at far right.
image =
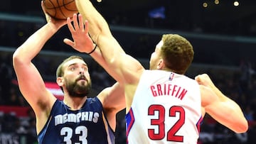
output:
[{"label": "bent right arm of the GRIFFIN 32 player, at far right", "polygon": [[[200,74],[196,81],[202,85],[202,106],[216,121],[235,131],[245,133],[248,123],[240,106],[215,87],[208,74]],[[208,90],[210,88],[210,90]],[[214,92],[214,95],[211,95]]]}]

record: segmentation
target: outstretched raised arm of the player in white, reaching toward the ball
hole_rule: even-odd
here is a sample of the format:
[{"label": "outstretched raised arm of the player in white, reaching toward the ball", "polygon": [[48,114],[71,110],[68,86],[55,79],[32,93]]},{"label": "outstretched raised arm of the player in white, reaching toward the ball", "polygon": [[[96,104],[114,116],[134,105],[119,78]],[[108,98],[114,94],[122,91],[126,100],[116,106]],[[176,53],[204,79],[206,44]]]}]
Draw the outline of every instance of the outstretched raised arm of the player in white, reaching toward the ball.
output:
[{"label": "outstretched raised arm of the player in white, reaching toward the ball", "polygon": [[[89,33],[92,40],[97,44],[97,48],[100,49],[102,57],[107,62],[108,68],[103,65],[105,70],[118,82],[138,82],[139,79],[136,76],[143,72],[144,67],[122,50],[117,40],[113,37],[105,18],[100,15],[89,0],[75,1],[83,20],[89,22]],[[93,52],[91,56],[95,58]]]}]

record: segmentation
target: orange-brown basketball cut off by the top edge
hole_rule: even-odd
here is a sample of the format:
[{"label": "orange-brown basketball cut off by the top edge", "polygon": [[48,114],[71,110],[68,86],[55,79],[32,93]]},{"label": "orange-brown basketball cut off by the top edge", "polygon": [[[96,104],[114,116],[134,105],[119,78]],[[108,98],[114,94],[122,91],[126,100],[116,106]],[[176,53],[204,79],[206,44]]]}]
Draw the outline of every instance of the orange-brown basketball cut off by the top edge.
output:
[{"label": "orange-brown basketball cut off by the top edge", "polygon": [[72,18],[78,13],[75,0],[43,0],[46,13],[56,19]]}]

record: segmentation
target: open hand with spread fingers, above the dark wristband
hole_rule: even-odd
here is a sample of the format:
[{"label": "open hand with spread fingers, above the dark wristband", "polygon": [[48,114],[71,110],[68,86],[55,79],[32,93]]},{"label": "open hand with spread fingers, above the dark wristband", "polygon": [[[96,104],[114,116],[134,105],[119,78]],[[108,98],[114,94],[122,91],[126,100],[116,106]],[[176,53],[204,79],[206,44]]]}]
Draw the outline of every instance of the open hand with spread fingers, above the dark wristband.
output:
[{"label": "open hand with spread fingers, above the dark wristband", "polygon": [[[79,20],[79,21],[78,21]],[[95,44],[93,43],[92,39],[89,35],[89,26],[88,21],[83,23],[82,15],[81,14],[74,14],[73,15],[73,25],[70,21],[70,18],[67,19],[68,29],[72,34],[73,40],[65,38],[63,42],[67,45],[70,45],[75,50],[79,52],[91,52],[93,48],[95,48]]]}]

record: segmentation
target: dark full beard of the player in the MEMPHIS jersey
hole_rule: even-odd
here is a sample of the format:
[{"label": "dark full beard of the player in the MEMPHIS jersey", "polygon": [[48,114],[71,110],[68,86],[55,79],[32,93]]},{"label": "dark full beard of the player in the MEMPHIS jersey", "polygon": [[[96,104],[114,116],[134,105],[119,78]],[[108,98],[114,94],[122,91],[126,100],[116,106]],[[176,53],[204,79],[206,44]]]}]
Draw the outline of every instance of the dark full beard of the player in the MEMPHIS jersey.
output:
[{"label": "dark full beard of the player in the MEMPHIS jersey", "polygon": [[[86,82],[80,82],[78,81],[80,79],[85,79]],[[78,79],[75,79],[75,82],[68,82],[67,79],[65,79],[67,82],[66,89],[68,91],[68,94],[71,97],[85,97],[89,94],[90,89],[92,88],[92,83],[90,80],[86,79],[83,75],[80,75]]]}]

